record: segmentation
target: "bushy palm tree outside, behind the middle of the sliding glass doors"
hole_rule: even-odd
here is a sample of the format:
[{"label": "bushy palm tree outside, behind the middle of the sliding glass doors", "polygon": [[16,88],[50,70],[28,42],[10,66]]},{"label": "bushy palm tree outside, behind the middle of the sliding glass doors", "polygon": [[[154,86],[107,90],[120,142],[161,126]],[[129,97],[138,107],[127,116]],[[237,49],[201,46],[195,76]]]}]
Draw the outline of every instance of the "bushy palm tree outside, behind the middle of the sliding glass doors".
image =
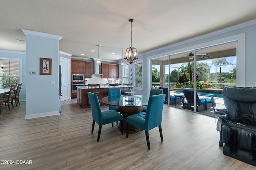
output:
[{"label": "bushy palm tree outside, behind the middle of the sliding glass doors", "polygon": [[[196,72],[203,74],[203,73],[207,73],[209,71],[209,68],[207,68],[205,66],[204,63],[196,63]],[[193,73],[194,73],[194,62],[188,62],[188,63],[184,63],[182,64],[182,66],[180,67],[180,72],[182,72],[182,74],[186,74],[189,73],[190,76],[190,82],[193,81]]]}]

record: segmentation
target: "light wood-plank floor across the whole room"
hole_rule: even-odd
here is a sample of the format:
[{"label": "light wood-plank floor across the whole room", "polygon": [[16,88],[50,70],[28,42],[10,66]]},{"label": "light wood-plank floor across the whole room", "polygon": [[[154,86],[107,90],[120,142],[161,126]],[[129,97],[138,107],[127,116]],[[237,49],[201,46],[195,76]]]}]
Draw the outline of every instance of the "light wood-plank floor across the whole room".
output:
[{"label": "light wood-plank floor across the whole room", "polygon": [[[25,102],[0,115],[1,170],[88,169],[88,170],[256,170],[255,166],[224,156],[213,117],[164,106],[161,142],[158,128],[149,131],[151,150],[144,131],[121,135],[118,126],[98,125],[91,133],[92,112],[76,99],[62,102],[58,116],[24,120]],[[102,110],[108,106],[102,106]],[[32,164],[16,164],[32,160]]]}]

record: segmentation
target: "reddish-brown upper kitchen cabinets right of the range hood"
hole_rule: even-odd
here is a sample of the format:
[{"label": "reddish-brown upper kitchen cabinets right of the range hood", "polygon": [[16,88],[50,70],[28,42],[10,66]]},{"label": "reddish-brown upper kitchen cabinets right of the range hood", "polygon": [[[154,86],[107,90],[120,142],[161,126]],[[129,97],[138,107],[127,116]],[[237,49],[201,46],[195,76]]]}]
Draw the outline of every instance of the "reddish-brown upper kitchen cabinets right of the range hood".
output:
[{"label": "reddish-brown upper kitchen cabinets right of the range hood", "polygon": [[101,78],[119,78],[119,64],[101,64]]}]

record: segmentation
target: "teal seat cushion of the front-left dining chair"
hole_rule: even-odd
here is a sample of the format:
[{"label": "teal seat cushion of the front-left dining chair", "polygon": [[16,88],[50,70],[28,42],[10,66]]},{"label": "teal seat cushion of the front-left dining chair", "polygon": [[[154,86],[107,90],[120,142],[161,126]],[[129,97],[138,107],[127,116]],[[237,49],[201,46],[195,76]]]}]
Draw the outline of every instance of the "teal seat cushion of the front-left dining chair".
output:
[{"label": "teal seat cushion of the front-left dining chair", "polygon": [[102,111],[102,125],[123,120],[123,116],[114,110]]}]

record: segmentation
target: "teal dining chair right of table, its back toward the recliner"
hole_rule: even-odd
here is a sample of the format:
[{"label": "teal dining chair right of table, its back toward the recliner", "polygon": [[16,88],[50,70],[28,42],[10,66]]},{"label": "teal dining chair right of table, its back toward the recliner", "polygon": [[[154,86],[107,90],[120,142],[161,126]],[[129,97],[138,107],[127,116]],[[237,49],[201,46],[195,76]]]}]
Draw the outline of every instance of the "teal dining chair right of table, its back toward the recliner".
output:
[{"label": "teal dining chair right of table, its back toward the recliner", "polygon": [[164,141],[162,134],[162,112],[164,107],[165,94],[150,96],[148,100],[148,108],[145,112],[130,115],[126,118],[127,129],[126,137],[129,137],[129,124],[134,125],[146,133],[146,141],[150,150],[150,142],[148,131],[158,126],[161,141]]}]

